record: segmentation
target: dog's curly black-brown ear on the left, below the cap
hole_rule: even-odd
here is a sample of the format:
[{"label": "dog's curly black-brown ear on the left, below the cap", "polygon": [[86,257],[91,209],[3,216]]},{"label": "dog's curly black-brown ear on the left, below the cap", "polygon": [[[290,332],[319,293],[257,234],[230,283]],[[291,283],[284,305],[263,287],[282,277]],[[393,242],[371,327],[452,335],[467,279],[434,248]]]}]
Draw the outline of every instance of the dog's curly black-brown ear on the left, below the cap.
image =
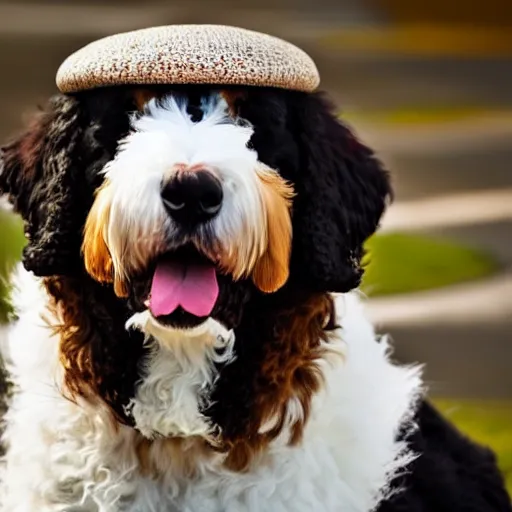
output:
[{"label": "dog's curly black-brown ear on the left, below the cap", "polygon": [[[36,275],[69,275],[81,268],[82,228],[101,183],[99,170],[127,131],[126,112],[105,107],[119,103],[94,93],[85,99],[57,95],[1,148],[0,194],[7,194],[25,221],[23,263]],[[107,121],[106,130],[105,119],[117,125]]]}]

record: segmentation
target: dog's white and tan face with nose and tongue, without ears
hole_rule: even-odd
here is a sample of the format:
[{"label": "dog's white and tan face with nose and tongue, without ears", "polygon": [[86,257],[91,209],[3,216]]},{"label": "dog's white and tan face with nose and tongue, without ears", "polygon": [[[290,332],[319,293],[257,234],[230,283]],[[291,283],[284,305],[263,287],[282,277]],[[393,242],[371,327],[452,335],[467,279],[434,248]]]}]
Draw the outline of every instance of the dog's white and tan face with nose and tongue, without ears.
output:
[{"label": "dog's white and tan face with nose and tongue, without ears", "polygon": [[229,99],[144,101],[101,171],[85,268],[160,323],[215,316],[234,283],[272,293],[288,279],[293,187],[258,159],[254,130]]}]

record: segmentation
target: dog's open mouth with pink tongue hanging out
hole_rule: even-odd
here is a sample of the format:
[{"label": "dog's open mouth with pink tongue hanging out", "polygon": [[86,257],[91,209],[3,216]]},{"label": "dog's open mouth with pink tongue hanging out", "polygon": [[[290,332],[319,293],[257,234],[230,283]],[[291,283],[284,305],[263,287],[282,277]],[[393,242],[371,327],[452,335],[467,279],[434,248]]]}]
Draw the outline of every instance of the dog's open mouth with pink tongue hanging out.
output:
[{"label": "dog's open mouth with pink tongue hanging out", "polygon": [[158,256],[149,275],[145,305],[159,323],[190,328],[212,314],[219,299],[217,267],[194,247]]}]

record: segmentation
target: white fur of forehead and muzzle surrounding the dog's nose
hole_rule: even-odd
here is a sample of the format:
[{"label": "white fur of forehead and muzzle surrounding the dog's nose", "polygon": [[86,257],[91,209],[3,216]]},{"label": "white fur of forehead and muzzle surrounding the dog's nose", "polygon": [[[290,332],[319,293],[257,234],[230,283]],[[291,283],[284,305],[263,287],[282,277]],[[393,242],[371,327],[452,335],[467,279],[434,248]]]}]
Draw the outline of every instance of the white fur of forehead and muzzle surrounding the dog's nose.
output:
[{"label": "white fur of forehead and muzzle surrounding the dog's nose", "polygon": [[[250,263],[246,267],[253,266],[265,250],[266,212],[257,177],[264,166],[247,147],[252,127],[230,118],[220,95],[204,101],[200,122],[190,119],[186,107],[179,97],[168,96],[161,103],[151,100],[146,112],[132,119],[131,133],[104,169],[112,194],[105,239],[122,277],[134,270],[124,268],[127,254],[140,255],[145,265],[162,248],[173,248],[177,226],[165,211],[160,192],[181,164],[211,169],[224,192],[219,214],[198,227],[191,241],[203,245],[213,234],[209,242],[215,252],[230,259],[236,251],[238,261]],[[132,262],[135,270],[138,263]]]}]

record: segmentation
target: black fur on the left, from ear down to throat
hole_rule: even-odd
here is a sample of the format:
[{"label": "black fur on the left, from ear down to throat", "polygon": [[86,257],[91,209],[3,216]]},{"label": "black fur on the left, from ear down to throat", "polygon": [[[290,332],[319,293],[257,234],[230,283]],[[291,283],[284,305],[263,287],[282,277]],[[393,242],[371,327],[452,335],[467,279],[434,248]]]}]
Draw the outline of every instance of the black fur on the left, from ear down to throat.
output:
[{"label": "black fur on the left, from ear down to throat", "polygon": [[[85,273],[80,247],[94,191],[103,179],[99,171],[128,132],[128,112],[134,108],[124,91],[57,95],[21,136],[2,148],[0,161],[0,193],[8,194],[25,221],[24,266],[52,277],[50,295],[67,301],[68,316],[89,345],[87,369],[80,365],[74,374],[126,423],[131,420],[124,406],[139,378],[143,336],[126,331],[133,313],[112,289]],[[101,380],[94,381],[91,369],[101,373]]]}]

